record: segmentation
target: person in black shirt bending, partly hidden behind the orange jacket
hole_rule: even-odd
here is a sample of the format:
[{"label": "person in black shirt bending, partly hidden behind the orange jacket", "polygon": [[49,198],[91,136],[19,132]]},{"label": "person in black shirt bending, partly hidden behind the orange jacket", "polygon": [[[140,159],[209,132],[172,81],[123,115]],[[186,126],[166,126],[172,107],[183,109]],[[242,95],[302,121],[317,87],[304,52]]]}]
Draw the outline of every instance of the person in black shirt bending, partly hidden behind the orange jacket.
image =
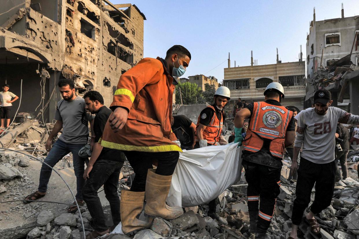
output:
[{"label": "person in black shirt bending, partly hidden behind the orange jacket", "polygon": [[196,125],[185,115],[173,115],[171,128],[180,140],[181,149],[190,150],[195,147]]}]

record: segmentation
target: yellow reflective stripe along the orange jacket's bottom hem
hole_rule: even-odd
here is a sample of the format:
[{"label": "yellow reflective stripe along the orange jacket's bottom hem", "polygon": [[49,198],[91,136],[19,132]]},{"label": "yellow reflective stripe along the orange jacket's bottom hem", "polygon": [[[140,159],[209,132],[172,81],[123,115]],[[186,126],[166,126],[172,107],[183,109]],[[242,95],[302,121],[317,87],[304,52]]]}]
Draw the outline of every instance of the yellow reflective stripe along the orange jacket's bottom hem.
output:
[{"label": "yellow reflective stripe along the orange jacket's bottom hem", "polygon": [[101,140],[101,146],[111,149],[125,150],[125,151],[140,151],[140,152],[169,152],[178,151],[182,149],[178,145],[158,145],[158,146],[135,146],[128,144],[117,144],[106,140]]}]

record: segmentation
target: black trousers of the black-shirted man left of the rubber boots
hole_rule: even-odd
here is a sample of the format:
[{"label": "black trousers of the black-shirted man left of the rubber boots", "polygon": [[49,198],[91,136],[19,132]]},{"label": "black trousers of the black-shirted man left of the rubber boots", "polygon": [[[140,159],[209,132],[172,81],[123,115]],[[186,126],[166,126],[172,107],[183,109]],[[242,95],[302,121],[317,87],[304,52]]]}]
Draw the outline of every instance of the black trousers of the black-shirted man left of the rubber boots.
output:
[{"label": "black trousers of the black-shirted man left of the rubber boots", "polygon": [[89,173],[89,179],[82,189],[87,209],[92,217],[92,226],[96,231],[102,232],[108,229],[101,201],[97,195],[97,191],[102,185],[111,207],[113,225],[117,225],[121,221],[120,197],[117,193],[117,186],[122,166],[123,162],[118,161],[107,159],[96,161]]}]

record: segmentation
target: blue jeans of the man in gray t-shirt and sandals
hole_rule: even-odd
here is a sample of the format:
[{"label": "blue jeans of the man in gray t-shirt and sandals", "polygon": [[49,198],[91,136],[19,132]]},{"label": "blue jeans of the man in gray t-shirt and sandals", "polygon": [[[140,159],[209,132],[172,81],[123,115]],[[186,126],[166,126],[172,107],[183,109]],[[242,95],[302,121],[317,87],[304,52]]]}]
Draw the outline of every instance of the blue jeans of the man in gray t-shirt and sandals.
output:
[{"label": "blue jeans of the man in gray t-shirt and sandals", "polygon": [[[88,162],[88,158],[81,158],[79,156],[79,151],[85,144],[69,144],[61,141],[60,139],[56,140],[56,142],[52,145],[50,152],[45,158],[44,162],[50,165],[51,167],[55,166],[57,162],[59,162],[66,154],[73,154],[73,163],[74,163],[74,171],[76,176],[76,199],[83,200],[82,197],[82,188],[84,186],[85,180],[83,178],[84,175],[84,165],[85,162]],[[39,192],[46,192],[47,184],[50,180],[52,173],[52,169],[47,165],[42,164],[41,172],[40,172],[40,182],[39,182]]]}]

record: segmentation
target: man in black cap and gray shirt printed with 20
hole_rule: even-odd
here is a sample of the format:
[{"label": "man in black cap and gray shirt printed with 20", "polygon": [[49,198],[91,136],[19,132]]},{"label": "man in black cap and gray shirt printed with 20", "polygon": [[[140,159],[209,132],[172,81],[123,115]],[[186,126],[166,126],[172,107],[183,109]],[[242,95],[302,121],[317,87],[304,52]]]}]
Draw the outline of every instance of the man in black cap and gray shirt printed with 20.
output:
[{"label": "man in black cap and gray shirt printed with 20", "polygon": [[337,123],[358,124],[359,116],[351,115],[332,104],[331,94],[321,89],[314,94],[314,108],[302,111],[297,124],[294,143],[294,156],[291,172],[297,170],[297,157],[303,145],[295,190],[292,222],[289,238],[297,238],[298,226],[304,210],[311,201],[311,192],[315,184],[316,195],[306,220],[313,234],[320,233],[314,215],[326,209],[331,203],[335,183],[335,133]]}]

